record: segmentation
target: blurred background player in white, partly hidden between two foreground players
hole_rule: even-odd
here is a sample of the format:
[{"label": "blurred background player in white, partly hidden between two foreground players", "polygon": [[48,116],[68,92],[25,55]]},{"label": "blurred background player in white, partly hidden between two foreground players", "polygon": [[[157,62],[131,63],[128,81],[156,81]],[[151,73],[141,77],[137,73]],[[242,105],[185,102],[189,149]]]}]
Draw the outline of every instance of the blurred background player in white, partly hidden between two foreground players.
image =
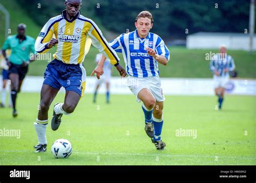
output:
[{"label": "blurred background player in white, partly hidden between two foreground players", "polygon": [[[96,58],[95,58],[96,64],[98,64],[100,59],[102,59],[102,55],[103,55],[102,53],[99,53],[96,55]],[[104,74],[102,75],[102,77],[96,81],[95,93],[93,95],[93,103],[96,102],[97,92],[98,92],[99,86],[102,83],[106,83],[106,102],[109,103],[109,98],[110,98],[109,89],[110,89],[110,79],[111,79],[111,72],[112,72],[112,65],[109,59],[107,59],[104,62],[103,71],[104,71]]]}]

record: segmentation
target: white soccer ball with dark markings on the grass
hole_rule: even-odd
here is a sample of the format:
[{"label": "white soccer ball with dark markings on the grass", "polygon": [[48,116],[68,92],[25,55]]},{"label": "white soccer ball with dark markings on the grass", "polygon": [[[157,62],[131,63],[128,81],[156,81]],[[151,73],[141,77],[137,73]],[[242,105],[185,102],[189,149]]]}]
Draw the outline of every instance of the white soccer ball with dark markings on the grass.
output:
[{"label": "white soccer ball with dark markings on the grass", "polygon": [[66,139],[58,139],[52,144],[51,152],[55,158],[68,158],[72,153],[71,143]]}]

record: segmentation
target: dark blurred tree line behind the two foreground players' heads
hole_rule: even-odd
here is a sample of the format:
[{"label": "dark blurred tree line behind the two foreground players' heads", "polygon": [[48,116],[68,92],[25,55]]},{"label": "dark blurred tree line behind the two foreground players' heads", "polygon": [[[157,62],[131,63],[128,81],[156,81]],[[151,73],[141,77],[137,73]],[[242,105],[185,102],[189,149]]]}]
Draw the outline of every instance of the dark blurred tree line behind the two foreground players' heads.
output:
[{"label": "dark blurred tree line behind the two foreground players' heads", "polygon": [[[65,8],[64,0],[17,2],[40,26]],[[200,31],[244,32],[248,29],[250,0],[83,0],[81,12],[106,30],[124,33],[134,30],[134,19],[143,10],[153,15],[152,32],[185,38]]]}]

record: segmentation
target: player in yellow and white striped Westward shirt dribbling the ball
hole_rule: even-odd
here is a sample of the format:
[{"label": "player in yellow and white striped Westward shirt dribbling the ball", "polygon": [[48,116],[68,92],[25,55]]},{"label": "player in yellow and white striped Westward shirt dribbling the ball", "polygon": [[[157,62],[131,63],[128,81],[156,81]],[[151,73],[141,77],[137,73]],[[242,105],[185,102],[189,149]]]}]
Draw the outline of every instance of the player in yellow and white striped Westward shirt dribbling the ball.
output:
[{"label": "player in yellow and white striped Westward shirt dribbling the ball", "polygon": [[[80,15],[81,5],[82,0],[66,0],[66,9],[44,25],[36,40],[35,50],[38,53],[45,53],[52,46],[57,46],[57,51],[44,73],[41,102],[34,123],[38,137],[38,144],[34,146],[35,152],[46,151],[48,110],[60,87],[65,88],[66,95],[64,103],[56,103],[54,106],[52,130],[58,129],[62,115],[70,115],[83,96],[86,72],[82,62],[91,42],[116,66],[122,77],[126,75],[125,69],[118,63],[117,53],[107,43],[98,26],[91,19]],[[103,66],[97,66],[95,74],[99,78],[103,74]]]}]

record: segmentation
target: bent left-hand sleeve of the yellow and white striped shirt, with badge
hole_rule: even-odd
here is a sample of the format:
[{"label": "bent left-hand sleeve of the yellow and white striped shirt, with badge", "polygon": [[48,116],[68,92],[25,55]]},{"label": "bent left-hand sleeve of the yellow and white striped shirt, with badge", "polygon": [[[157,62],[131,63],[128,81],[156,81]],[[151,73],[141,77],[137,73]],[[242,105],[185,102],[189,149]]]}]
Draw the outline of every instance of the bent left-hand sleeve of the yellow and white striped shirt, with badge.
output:
[{"label": "bent left-hand sleeve of the yellow and white striped shirt, with badge", "polygon": [[44,25],[43,29],[41,30],[41,32],[39,33],[37,39],[36,39],[36,43],[35,43],[35,51],[37,53],[46,53],[48,52],[50,49],[48,48],[48,43],[51,40],[52,36],[53,36],[53,24],[52,24],[53,20],[52,18]]}]

